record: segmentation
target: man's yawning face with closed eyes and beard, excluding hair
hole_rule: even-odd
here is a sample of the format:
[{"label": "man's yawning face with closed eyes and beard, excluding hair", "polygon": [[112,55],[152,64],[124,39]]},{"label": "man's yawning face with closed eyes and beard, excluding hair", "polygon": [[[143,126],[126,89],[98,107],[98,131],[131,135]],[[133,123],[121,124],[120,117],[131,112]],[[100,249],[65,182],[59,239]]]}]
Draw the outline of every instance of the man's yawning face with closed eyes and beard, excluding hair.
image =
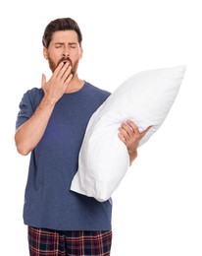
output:
[{"label": "man's yawning face with closed eyes and beard, excluding hair", "polygon": [[43,48],[43,55],[48,60],[52,72],[61,62],[69,62],[75,76],[78,62],[82,57],[82,48],[79,46],[76,32],[54,32],[48,48]]}]

